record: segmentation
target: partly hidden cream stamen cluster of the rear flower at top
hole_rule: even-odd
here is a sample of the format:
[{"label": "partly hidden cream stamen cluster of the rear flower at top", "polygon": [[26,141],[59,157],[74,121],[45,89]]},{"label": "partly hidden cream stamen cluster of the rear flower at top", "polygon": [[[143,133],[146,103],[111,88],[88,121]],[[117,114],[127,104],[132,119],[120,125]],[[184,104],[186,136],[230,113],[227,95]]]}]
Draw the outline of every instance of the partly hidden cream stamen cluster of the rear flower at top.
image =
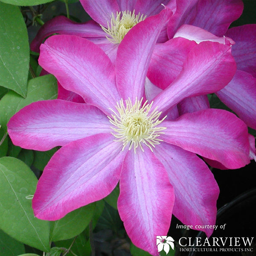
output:
[{"label": "partly hidden cream stamen cluster of the rear flower at top", "polygon": [[[122,13],[122,17],[121,17]],[[108,23],[108,28],[101,26],[103,31],[106,32],[108,40],[113,44],[119,44],[127,32],[134,27],[137,23],[142,20],[145,20],[146,16],[140,15],[138,13],[135,15],[135,10],[116,12],[116,17],[112,13],[111,25]]]}]

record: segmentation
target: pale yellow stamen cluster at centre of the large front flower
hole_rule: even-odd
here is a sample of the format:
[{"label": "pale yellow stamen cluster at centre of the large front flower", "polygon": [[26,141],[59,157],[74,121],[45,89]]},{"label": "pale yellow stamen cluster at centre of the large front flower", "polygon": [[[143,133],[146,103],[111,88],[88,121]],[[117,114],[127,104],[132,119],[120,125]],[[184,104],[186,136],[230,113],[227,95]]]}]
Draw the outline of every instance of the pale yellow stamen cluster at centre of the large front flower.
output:
[{"label": "pale yellow stamen cluster at centre of the large front flower", "polygon": [[166,116],[159,120],[159,116],[162,112],[158,112],[157,108],[150,112],[153,102],[147,104],[147,101],[142,105],[143,98],[138,101],[136,99],[134,105],[131,99],[125,100],[121,99],[116,103],[116,111],[111,111],[114,113],[109,117],[109,120],[113,127],[113,135],[117,138],[115,141],[122,141],[123,148],[129,144],[129,150],[134,148],[134,153],[136,153],[136,148],[140,146],[143,150],[143,145],[153,151],[156,144],[160,144],[158,137],[163,134],[163,130],[166,127],[158,127],[158,125],[163,122]]}]

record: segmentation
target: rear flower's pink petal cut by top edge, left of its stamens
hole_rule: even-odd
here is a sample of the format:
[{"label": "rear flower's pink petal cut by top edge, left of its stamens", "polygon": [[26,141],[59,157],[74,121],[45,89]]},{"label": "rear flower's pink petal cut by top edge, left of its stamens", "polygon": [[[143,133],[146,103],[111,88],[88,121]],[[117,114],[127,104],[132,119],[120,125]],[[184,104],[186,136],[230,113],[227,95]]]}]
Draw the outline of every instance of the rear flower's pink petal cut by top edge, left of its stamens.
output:
[{"label": "rear flower's pink petal cut by top edge, left of its stamens", "polygon": [[120,11],[116,0],[80,0],[80,3],[93,20],[105,27],[111,23],[112,13]]}]

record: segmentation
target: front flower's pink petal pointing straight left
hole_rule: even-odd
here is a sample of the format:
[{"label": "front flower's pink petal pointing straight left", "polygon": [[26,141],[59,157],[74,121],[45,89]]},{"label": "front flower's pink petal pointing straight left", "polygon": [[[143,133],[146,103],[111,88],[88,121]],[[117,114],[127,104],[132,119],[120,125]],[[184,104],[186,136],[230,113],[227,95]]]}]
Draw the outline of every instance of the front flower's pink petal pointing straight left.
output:
[{"label": "front flower's pink petal pointing straight left", "polygon": [[111,132],[110,122],[98,108],[59,99],[34,102],[8,123],[15,145],[42,151],[105,132]]}]

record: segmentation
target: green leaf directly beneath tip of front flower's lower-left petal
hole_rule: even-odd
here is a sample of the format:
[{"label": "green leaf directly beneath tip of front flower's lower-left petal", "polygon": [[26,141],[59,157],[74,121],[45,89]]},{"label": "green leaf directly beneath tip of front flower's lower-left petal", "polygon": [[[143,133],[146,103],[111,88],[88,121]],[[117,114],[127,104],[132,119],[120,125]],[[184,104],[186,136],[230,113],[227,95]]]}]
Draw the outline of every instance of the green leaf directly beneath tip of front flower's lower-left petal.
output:
[{"label": "green leaf directly beneath tip of front flower's lower-left petal", "polygon": [[51,221],[51,241],[70,239],[80,234],[90,223],[93,217],[95,203],[68,213],[58,221]]}]

